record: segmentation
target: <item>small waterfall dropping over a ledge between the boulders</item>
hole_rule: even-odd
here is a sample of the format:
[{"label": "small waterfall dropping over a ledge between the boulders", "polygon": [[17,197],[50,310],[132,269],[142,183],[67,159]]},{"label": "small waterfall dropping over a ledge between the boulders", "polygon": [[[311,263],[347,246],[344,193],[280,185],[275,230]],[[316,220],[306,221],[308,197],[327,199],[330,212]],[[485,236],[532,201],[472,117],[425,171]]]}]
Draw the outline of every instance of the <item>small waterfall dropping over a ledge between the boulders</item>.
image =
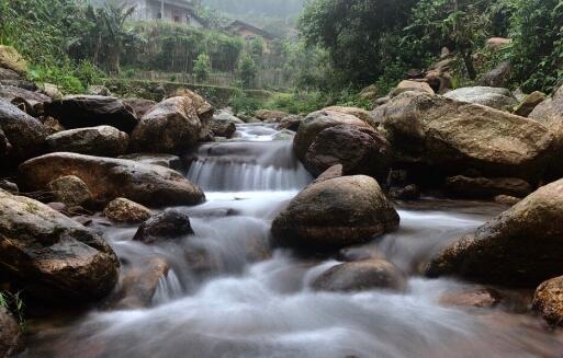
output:
[{"label": "small waterfall dropping over a ledge between the boulders", "polygon": [[194,158],[187,176],[203,190],[299,190],[312,180],[289,140],[203,145]]}]

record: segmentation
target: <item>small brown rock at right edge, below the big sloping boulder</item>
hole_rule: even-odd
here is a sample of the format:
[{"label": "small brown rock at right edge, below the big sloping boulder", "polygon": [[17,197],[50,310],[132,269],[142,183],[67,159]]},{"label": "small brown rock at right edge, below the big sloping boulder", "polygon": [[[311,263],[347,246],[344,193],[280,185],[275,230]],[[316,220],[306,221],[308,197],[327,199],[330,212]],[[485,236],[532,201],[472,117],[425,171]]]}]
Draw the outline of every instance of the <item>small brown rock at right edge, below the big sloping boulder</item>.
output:
[{"label": "small brown rock at right edge, below the big sloping boulder", "polygon": [[542,282],[533,295],[532,308],[550,324],[563,326],[563,277]]}]

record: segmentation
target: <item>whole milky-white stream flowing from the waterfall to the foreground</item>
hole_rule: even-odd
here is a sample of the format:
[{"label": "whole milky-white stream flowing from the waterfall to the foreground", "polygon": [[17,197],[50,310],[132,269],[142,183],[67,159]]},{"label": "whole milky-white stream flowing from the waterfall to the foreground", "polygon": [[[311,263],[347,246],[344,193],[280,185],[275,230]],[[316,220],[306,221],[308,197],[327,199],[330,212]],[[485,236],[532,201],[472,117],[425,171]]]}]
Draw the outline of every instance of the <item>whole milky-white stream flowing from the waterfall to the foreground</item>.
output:
[{"label": "whole milky-white stream flowing from the waterfall to the foreground", "polygon": [[22,357],[563,357],[561,332],[540,319],[506,305],[442,304],[443,295],[474,286],[417,275],[441,245],[499,207],[399,206],[397,232],[338,257],[386,257],[409,275],[408,290],[319,293],[309,282],[335,258],[297,257],[268,243],[271,220],[311,181],[288,132],[241,125],[234,140],[201,146],[187,176],[207,197],[178,208],[190,215],[195,235],[145,245],[131,241],[135,228],[97,224],[124,272],[154,257],[170,264],[149,307],[32,321]]}]

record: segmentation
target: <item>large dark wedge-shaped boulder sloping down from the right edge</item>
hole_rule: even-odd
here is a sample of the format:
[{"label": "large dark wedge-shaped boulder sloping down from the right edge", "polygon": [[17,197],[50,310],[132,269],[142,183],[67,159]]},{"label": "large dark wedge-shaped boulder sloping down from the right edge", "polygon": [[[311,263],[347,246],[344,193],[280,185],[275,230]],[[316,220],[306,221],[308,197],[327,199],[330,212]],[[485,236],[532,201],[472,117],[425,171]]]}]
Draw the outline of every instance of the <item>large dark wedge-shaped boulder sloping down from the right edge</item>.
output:
[{"label": "large dark wedge-shaped boulder sloping down from the right edge", "polygon": [[446,247],[429,263],[427,275],[536,287],[563,274],[562,255],[563,181],[559,181]]}]

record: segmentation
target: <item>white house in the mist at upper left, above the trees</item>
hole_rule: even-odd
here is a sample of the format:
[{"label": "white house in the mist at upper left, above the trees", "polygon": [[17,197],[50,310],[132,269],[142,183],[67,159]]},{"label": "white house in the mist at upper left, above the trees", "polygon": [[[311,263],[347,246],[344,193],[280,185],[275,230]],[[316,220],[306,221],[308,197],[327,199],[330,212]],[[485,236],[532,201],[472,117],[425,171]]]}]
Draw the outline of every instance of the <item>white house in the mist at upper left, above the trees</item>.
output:
[{"label": "white house in the mist at upper left, above the trees", "polygon": [[123,3],[135,7],[132,20],[164,20],[194,27],[207,26],[195,10],[200,0],[123,0]]}]

